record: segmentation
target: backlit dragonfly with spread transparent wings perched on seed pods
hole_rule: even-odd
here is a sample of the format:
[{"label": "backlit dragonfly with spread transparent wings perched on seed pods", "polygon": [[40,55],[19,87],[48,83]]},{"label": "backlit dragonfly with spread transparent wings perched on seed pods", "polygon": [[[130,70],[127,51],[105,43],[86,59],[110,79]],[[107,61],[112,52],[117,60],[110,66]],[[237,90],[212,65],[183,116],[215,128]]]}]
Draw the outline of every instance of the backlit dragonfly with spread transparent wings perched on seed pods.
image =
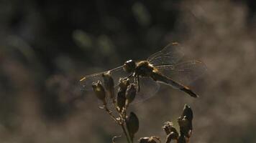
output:
[{"label": "backlit dragonfly with spread transparent wings perched on seed pods", "polygon": [[136,98],[140,101],[155,95],[160,83],[179,89],[191,97],[198,97],[198,94],[193,92],[188,85],[205,74],[206,65],[197,59],[181,61],[183,56],[181,45],[173,42],[149,56],[147,60],[128,60],[122,66],[109,71],[87,75],[80,82],[83,90],[90,91],[92,90],[91,84],[97,81],[102,82],[102,75],[109,72],[116,87],[118,87],[119,78],[134,79],[139,93]]}]

